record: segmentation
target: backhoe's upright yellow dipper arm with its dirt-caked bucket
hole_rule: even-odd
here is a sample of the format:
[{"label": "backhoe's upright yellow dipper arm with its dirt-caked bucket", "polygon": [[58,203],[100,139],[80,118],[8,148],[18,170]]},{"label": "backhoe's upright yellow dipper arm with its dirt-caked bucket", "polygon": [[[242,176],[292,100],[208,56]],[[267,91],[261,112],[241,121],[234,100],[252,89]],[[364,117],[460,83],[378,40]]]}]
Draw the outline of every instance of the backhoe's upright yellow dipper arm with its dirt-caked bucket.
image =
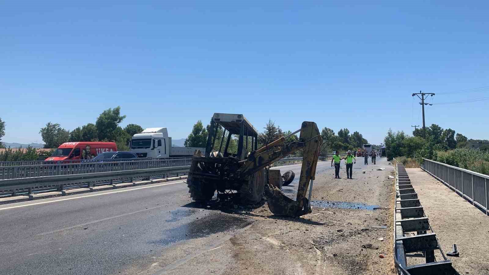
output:
[{"label": "backhoe's upright yellow dipper arm with its dirt-caked bucket", "polygon": [[[323,138],[319,134],[317,125],[314,122],[304,121],[300,132],[299,141],[295,142],[300,144],[304,154],[301,176],[297,187],[297,199],[295,201],[290,199],[279,188],[271,184],[268,184],[268,188],[265,190],[268,208],[275,215],[298,217],[312,212],[310,202],[306,198],[306,193],[309,188],[309,183],[312,184],[312,180],[314,180],[319,148],[321,147]],[[311,198],[311,191],[312,188],[309,189],[309,198]]]}]

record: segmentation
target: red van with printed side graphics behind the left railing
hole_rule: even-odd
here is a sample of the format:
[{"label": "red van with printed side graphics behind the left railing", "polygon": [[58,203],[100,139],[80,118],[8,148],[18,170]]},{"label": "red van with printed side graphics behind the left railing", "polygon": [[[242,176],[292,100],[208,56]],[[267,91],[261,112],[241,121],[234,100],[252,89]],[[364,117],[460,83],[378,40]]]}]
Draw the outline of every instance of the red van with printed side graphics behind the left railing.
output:
[{"label": "red van with printed side graphics behind the left railing", "polygon": [[65,142],[45,160],[91,160],[103,152],[117,152],[117,145],[115,142]]}]

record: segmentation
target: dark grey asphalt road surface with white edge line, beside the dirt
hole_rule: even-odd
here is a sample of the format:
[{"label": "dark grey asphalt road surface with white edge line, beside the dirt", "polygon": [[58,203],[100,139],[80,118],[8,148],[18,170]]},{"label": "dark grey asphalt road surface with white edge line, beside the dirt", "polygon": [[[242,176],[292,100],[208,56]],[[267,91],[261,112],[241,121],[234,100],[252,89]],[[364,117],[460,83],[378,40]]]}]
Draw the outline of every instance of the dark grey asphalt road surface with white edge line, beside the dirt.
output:
[{"label": "dark grey asphalt road surface with white edge line, beside the dirt", "polygon": [[[356,167],[362,168],[363,160]],[[291,186],[284,188],[296,190],[301,166],[278,168],[296,173]],[[342,168],[341,176],[346,177]],[[316,173],[332,169],[329,161],[319,162]],[[143,271],[164,256],[162,252],[173,253],[168,248],[175,243],[191,246],[218,232],[225,237],[251,222],[197,207],[181,181],[2,205],[0,274]],[[218,241],[222,238],[216,245]]]}]

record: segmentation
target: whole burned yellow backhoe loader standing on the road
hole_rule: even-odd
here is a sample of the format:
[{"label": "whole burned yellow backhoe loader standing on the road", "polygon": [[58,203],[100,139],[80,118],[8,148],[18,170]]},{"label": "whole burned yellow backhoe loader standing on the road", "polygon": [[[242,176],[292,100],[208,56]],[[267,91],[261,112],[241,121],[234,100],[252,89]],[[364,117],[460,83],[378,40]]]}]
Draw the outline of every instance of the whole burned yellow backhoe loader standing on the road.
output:
[{"label": "whole burned yellow backhoe loader standing on the road", "polygon": [[[299,140],[286,141],[289,136],[299,132]],[[235,153],[228,152],[232,135],[238,137]],[[244,204],[256,204],[265,194],[270,211],[276,215],[298,217],[311,213],[309,201],[323,139],[316,123],[309,121],[304,121],[301,129],[289,136],[257,148],[258,133],[243,115],[214,114],[205,148],[208,153],[203,156],[197,151],[192,157],[187,179],[190,196],[194,201],[203,202],[210,200],[216,190],[219,193],[238,192]],[[221,142],[217,148],[216,139],[219,137]],[[275,171],[269,170],[269,165],[298,150],[303,151],[303,161],[294,201],[282,193],[281,185],[277,183],[281,179],[275,175]],[[290,177],[293,177],[290,173],[283,176],[289,183]],[[309,187],[308,199],[306,193]]]}]

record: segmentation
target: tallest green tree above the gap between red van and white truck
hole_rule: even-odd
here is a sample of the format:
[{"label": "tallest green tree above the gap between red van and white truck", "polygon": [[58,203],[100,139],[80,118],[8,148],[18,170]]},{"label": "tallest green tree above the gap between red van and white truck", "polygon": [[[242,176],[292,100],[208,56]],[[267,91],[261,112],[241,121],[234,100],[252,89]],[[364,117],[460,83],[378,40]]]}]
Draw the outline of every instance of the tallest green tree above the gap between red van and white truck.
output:
[{"label": "tallest green tree above the gap between red van and white truck", "polygon": [[107,109],[99,115],[95,126],[97,127],[97,136],[99,140],[116,140],[119,131],[115,131],[119,123],[126,118],[125,115],[120,115],[121,107],[117,106],[114,109]]}]

